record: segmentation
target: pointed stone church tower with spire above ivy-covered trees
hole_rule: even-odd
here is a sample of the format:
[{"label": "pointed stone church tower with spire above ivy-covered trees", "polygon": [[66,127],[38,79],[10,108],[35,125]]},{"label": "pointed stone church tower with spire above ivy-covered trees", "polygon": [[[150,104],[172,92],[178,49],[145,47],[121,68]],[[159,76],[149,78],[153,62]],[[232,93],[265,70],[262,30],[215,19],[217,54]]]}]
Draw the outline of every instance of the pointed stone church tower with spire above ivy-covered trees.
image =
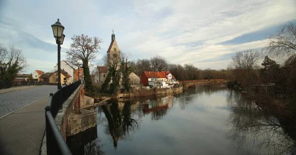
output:
[{"label": "pointed stone church tower with spire above ivy-covered trees", "polygon": [[117,42],[115,40],[114,31],[111,35],[111,43],[107,51],[107,61],[108,64],[112,63],[113,61],[118,61],[120,58],[120,50],[118,48]]}]

